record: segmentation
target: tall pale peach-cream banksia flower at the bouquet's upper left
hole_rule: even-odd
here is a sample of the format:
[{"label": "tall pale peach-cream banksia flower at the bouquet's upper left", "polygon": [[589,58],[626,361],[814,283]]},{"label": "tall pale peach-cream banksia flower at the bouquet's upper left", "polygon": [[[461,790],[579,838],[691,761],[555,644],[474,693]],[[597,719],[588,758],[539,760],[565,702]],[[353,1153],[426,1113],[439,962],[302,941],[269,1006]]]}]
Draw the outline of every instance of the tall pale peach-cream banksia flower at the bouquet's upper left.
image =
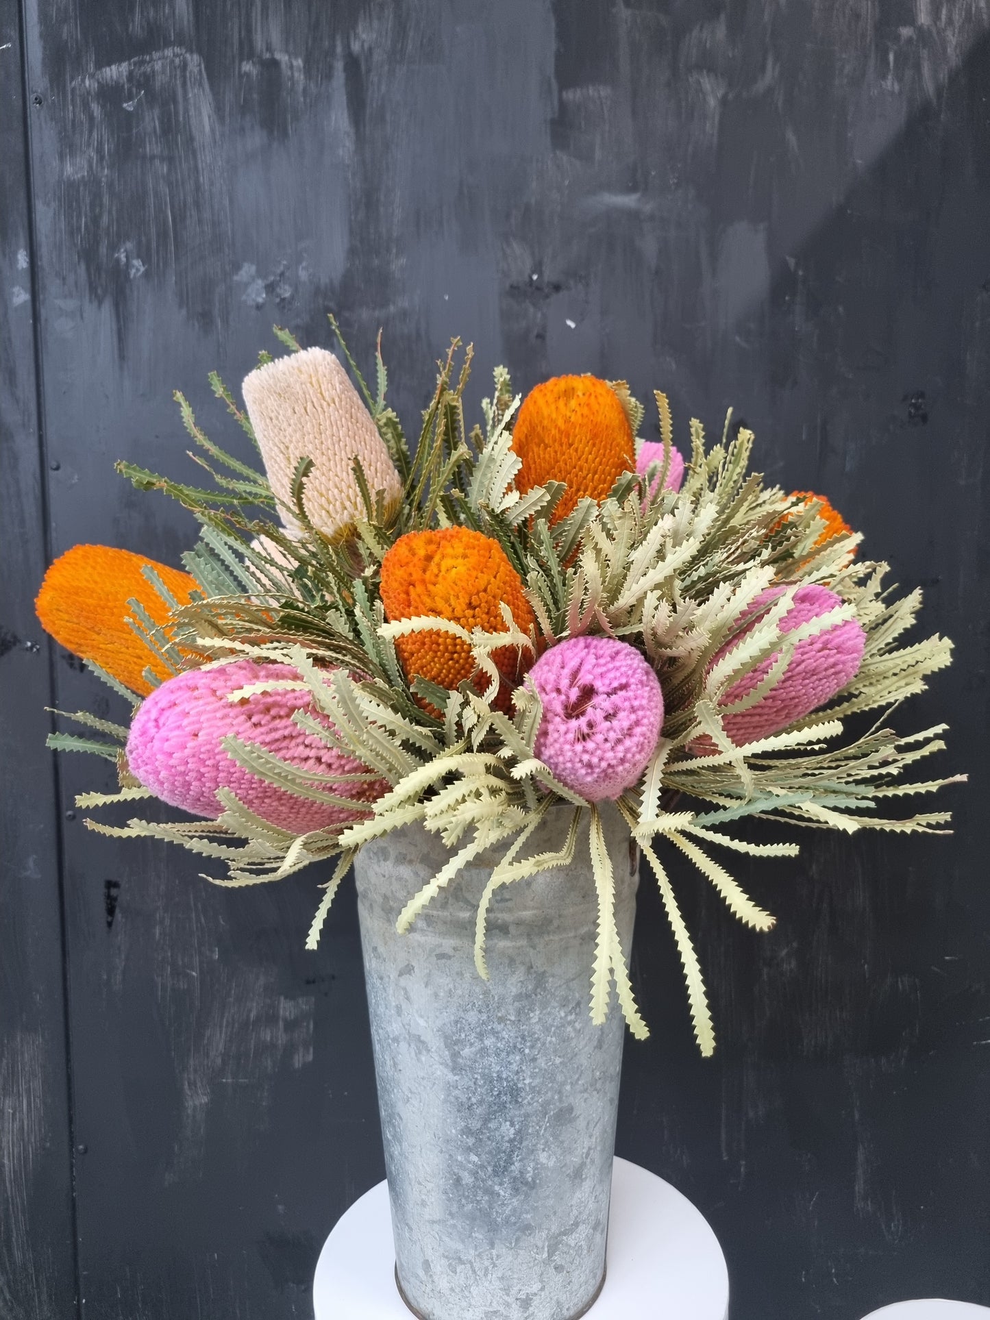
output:
[{"label": "tall pale peach-cream banksia flower at the bouquet's upper left", "polygon": [[304,348],[256,367],[244,378],[244,403],[264,458],[268,482],[286,527],[293,517],[292,478],[300,458],[312,458],[302,495],[310,523],[331,541],[347,537],[367,517],[354,477],[360,461],[372,500],[384,492],[385,513],[403,495],[403,483],[371,413],[337,358],[325,348]]}]

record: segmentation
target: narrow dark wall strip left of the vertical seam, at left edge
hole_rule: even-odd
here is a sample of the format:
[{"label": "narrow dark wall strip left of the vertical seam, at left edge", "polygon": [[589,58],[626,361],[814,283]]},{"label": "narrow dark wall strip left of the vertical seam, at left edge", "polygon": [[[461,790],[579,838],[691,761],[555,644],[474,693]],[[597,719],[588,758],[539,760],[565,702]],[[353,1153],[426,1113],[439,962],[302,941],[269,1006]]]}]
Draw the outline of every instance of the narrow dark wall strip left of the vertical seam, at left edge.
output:
[{"label": "narrow dark wall strip left of the vertical seam, at left edge", "polygon": [[17,5],[0,0],[0,1316],[75,1312],[34,271]]}]

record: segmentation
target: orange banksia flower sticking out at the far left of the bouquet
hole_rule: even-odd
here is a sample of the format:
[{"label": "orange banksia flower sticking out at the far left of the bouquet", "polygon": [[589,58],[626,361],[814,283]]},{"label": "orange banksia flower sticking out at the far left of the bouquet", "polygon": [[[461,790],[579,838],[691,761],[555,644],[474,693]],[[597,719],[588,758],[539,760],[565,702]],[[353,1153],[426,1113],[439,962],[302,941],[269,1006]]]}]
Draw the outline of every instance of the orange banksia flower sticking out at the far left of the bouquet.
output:
[{"label": "orange banksia flower sticking out at the far left of the bouquet", "polygon": [[74,545],[51,564],[34,609],[42,628],[59,645],[92,660],[131,692],[145,693],[150,669],[158,678],[169,671],[127,623],[128,601],[144,606],[154,623],[166,623],[170,610],[141,572],[152,568],[180,605],[189,605],[195,578],[144,554],[110,545]]}]

